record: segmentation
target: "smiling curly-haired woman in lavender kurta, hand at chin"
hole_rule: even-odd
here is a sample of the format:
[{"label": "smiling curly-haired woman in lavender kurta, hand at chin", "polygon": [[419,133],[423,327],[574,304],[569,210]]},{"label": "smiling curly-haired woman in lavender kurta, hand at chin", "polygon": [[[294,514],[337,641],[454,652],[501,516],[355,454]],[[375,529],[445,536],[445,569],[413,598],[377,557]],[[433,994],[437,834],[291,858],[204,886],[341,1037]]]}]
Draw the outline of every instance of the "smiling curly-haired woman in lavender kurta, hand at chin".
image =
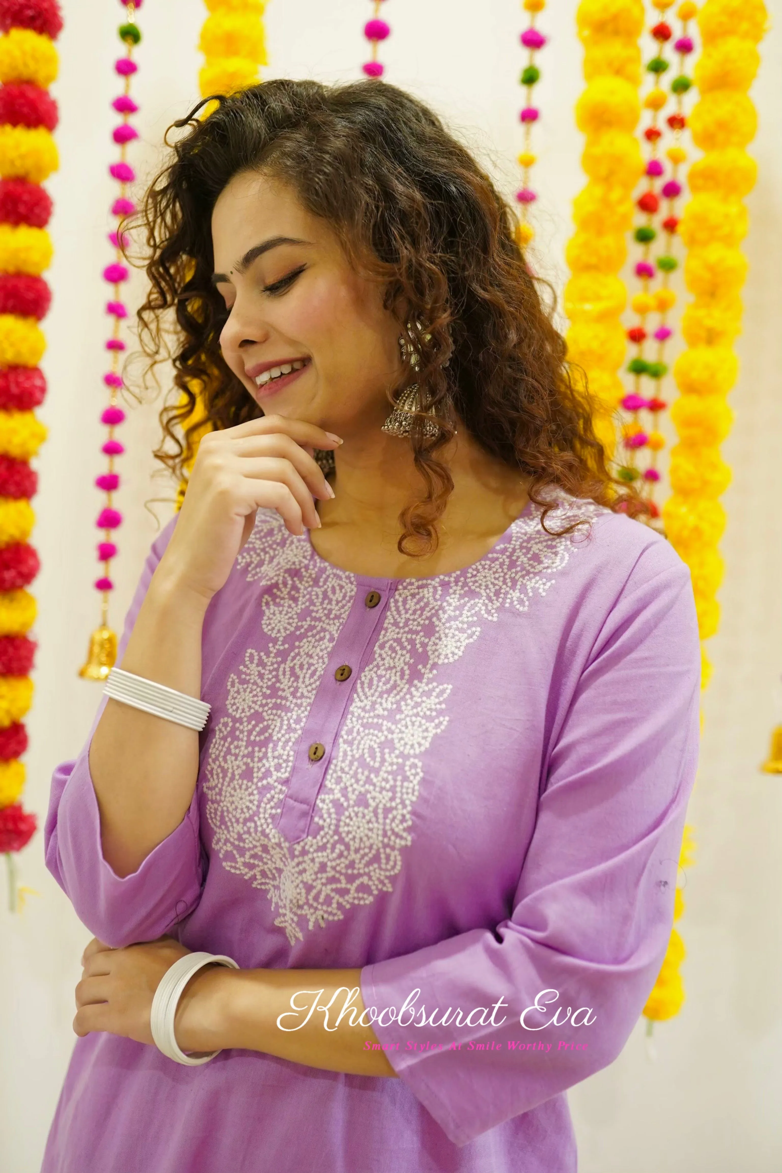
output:
[{"label": "smiling curly-haired woman in lavender kurta, hand at chin", "polygon": [[[141,317],[159,357],[175,313],[213,430],[117,665],[211,712],[103,697],[54,774],[47,862],[95,940],[43,1173],[570,1173],[565,1091],[673,922],[687,568],[434,114],[272,81],[193,115]],[[200,950],[240,968],[188,984],[176,1043],[219,1052],[189,1067],[150,1008]]]}]

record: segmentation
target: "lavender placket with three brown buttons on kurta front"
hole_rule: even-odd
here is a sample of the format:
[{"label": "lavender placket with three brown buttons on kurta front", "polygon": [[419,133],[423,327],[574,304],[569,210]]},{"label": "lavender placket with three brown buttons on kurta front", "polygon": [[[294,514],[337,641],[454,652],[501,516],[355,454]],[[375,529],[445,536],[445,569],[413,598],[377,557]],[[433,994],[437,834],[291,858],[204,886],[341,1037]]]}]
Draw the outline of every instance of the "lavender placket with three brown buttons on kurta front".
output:
[{"label": "lavender placket with three brown buttons on kurta front", "polygon": [[393,581],[380,590],[368,588],[360,578],[356,581],[355,598],[328,657],[301,731],[288,788],[276,821],[277,829],[290,843],[307,836],[353,690],[361,667],[372,656],[394,588]]}]

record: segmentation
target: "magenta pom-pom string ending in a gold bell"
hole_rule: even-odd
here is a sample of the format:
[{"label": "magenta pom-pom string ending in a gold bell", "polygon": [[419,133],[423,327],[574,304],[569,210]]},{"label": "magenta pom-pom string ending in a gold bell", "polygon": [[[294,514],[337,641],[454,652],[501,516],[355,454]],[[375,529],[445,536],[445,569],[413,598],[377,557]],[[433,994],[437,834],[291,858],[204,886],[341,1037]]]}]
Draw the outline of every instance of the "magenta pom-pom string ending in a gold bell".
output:
[{"label": "magenta pom-pom string ending in a gold bell", "polygon": [[107,470],[95,477],[95,487],[106,493],[106,503],[95,521],[95,527],[103,530],[103,538],[97,543],[97,561],[103,563],[103,572],[93,584],[95,590],[101,592],[101,622],[90,635],[87,660],[79,670],[79,676],[84,680],[106,680],[117,655],[117,636],[109,626],[108,612],[109,598],[114,590],[110,564],[118,552],[115,535],[122,524],[122,514],[114,504],[114,494],[120,488],[120,474],[115,472],[114,462],[124,453],[124,446],[117,440],[115,428],[120,427],[125,419],[125,413],[117,404],[117,392],[122,387],[120,361],[125,350],[121,337],[122,323],[128,317],[122,287],[130,277],[122,252],[122,245],[127,243],[127,239],[120,235],[118,225],[123,216],[129,216],[130,212],[135,211],[135,204],[129,197],[129,184],[135,181],[136,172],[128,162],[128,145],[138,137],[138,131],[130,122],[131,115],[137,113],[138,107],[130,91],[132,77],[138,69],[134,61],[132,50],[141,41],[141,30],[136,23],[136,9],[141,5],[142,0],[123,2],[125,20],[120,25],[117,35],[125,52],[114,63],[114,70],[123,82],[123,90],[111,102],[111,108],[122,120],[111,133],[111,138],[120,149],[118,158],[109,165],[109,175],[118,184],[117,196],[111,204],[111,215],[116,217],[117,224],[114,231],[109,232],[109,244],[115,255],[114,260],[103,270],[103,280],[110,290],[106,312],[113,323],[111,335],[106,341],[110,369],[103,375],[103,384],[109,392],[109,404],[101,413],[101,423],[108,429],[107,439],[101,447],[101,452],[107,457]]}]

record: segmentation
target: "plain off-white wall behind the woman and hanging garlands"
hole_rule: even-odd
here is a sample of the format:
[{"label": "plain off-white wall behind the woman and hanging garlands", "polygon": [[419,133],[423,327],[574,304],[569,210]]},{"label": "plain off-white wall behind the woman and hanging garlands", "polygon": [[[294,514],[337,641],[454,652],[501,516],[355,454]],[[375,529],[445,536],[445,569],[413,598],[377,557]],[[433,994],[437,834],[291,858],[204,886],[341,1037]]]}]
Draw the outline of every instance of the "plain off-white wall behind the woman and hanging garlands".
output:
[{"label": "plain off-white wall behind the woman and hanging garlands", "polygon": [[[54,289],[45,323],[49,392],[40,415],[49,439],[38,460],[40,489],[33,542],[42,570],[35,699],[28,717],[27,805],[47,808],[54,766],[80,751],[100,699],[81,680],[89,632],[98,621],[93,487],[102,472],[97,422],[106,395],[102,343],[108,319],[100,272],[109,259],[106,232],[113,182],[109,101],[117,91],[113,61],[122,8],[111,0],[61,0],[57,141],[61,169],[48,184],[55,201]],[[768,2],[768,0],[767,0]],[[582,184],[580,136],[572,108],[580,90],[576,0],[550,0],[540,27],[551,42],[540,54],[542,122],[538,267],[560,287],[570,202]],[[782,0],[770,0],[773,21]],[[270,0],[266,76],[324,81],[359,76],[367,0]],[[387,79],[436,107],[483,156],[510,194],[521,135],[516,120],[524,27],[517,0],[392,0],[393,27],[382,57]],[[165,127],[197,99],[200,0],[147,0],[135,93],[151,170]],[[771,690],[782,672],[782,50],[771,29],[753,96],[761,127],[752,150],[760,182],[749,198],[746,249],[750,277],[739,343],[742,373],[730,402],[736,422],[725,445],[734,480],[725,496],[729,526],[722,543],[727,576],[722,623],[710,642],[714,678],[688,821],[699,845],[687,875],[680,928],[688,949],[684,1011],[655,1028],[651,1058],[639,1023],[623,1055],[570,1093],[582,1173],[778,1173],[782,1135],[782,781],[759,773],[774,721]],[[158,524],[144,507],[172,496],[152,479],[157,407],[130,402],[118,497],[125,515],[111,623],[121,629]],[[155,507],[163,524],[171,506]],[[642,698],[639,697],[639,704]],[[42,835],[21,856],[22,882],[35,889],[21,915],[6,909],[0,879],[0,1168],[36,1173],[75,1036],[73,989],[90,934],[43,867]],[[519,1169],[524,1167],[519,1153]],[[88,1171],[84,1171],[88,1173]],[[90,1171],[122,1173],[122,1171]],[[150,1171],[154,1173],[154,1171]],[[304,1173],[304,1171],[302,1171]],[[489,1173],[489,1171],[487,1171]]]}]

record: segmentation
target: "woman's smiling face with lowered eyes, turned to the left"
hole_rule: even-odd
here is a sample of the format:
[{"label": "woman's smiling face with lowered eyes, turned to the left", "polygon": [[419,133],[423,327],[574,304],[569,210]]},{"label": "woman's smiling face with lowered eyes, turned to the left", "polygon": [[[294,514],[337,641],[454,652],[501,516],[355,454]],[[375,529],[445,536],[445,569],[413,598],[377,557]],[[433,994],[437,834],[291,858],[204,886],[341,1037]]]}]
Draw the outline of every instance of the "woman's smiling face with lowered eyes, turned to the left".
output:
[{"label": "woman's smiling face with lowered eyes, turned to the left", "polygon": [[333,230],[291,188],[234,176],[212,213],[225,361],[266,414],[347,438],[379,427],[400,372],[399,323]]}]

